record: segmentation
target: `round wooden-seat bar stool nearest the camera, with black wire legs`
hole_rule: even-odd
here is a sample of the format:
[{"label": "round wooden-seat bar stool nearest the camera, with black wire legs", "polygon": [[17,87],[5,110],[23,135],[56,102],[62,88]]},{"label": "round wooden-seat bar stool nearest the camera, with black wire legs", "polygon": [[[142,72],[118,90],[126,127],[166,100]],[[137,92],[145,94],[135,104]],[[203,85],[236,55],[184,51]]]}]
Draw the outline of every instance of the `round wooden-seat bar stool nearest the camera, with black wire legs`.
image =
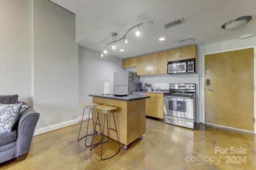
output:
[{"label": "round wooden-seat bar stool nearest the camera, with black wire legs", "polygon": [[[119,142],[119,139],[118,139],[117,129],[112,129],[112,128],[109,128],[109,127],[108,127],[108,114],[113,113],[113,118],[114,118],[114,123],[115,123],[115,128],[116,128],[116,120],[115,120],[114,113],[117,111],[117,107],[99,105],[99,106],[95,106],[95,111],[98,112],[97,120],[99,120],[99,119],[98,119],[99,113],[104,113],[104,121],[103,121],[103,132],[102,132],[102,143],[101,143],[100,158],[101,158],[101,160],[106,160],[106,159],[109,159],[109,158],[112,158],[112,157],[116,156],[116,154],[118,154],[118,152],[120,151],[120,142]],[[113,131],[116,132],[116,137],[117,137],[119,149],[118,149],[118,151],[116,152],[116,154],[114,154],[113,156],[110,156],[110,157],[108,157],[108,158],[104,158],[104,159],[103,159],[103,158],[102,158],[103,143],[106,143],[106,142],[109,141],[109,132],[108,132],[108,141],[103,142],[103,138],[104,138],[104,127],[105,127],[105,117],[107,117],[107,127],[108,127],[108,130],[113,130]],[[96,120],[96,125],[97,125],[97,120]],[[98,124],[98,125],[100,125],[100,120],[99,120],[99,124]],[[93,138],[94,138],[94,134],[93,134],[92,140],[93,140]],[[93,148],[94,148],[94,147],[93,147]],[[92,148],[92,149],[93,149],[93,148]],[[91,150],[92,150],[92,149],[91,149]]]}]

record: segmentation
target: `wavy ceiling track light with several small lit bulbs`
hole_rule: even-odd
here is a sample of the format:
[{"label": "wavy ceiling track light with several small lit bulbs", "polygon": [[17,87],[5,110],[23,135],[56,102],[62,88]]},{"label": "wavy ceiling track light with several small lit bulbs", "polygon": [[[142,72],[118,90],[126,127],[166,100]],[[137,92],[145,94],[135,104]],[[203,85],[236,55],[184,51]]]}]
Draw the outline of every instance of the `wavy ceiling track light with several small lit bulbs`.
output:
[{"label": "wavy ceiling track light with several small lit bulbs", "polygon": [[[124,40],[124,43],[128,43],[128,41],[127,41],[127,39],[126,39],[126,34],[127,34],[130,30],[132,30],[132,29],[134,29],[134,28],[136,28],[136,27],[138,27],[138,31],[135,33],[135,35],[136,35],[136,36],[139,36],[139,35],[140,35],[139,26],[142,25],[142,24],[143,24],[143,23],[139,23],[138,25],[135,25],[135,26],[131,27],[131,28],[124,34],[124,36],[123,36],[122,38],[118,39],[118,40],[116,40],[116,35],[117,35],[117,33],[114,33],[114,32],[110,33],[110,35],[112,35],[112,42],[110,42],[110,43],[108,43],[107,45],[105,45],[104,50],[99,51],[100,56],[103,57],[103,53],[105,53],[105,54],[107,53],[106,47],[107,47],[109,44],[113,44],[113,45],[112,45],[112,49],[115,49],[115,48],[116,48],[116,47],[115,47],[115,43],[118,42],[118,41],[120,41],[120,40],[122,40],[122,39]],[[115,41],[114,41],[114,40],[115,40]],[[121,51],[121,50],[120,50],[120,51]]]}]

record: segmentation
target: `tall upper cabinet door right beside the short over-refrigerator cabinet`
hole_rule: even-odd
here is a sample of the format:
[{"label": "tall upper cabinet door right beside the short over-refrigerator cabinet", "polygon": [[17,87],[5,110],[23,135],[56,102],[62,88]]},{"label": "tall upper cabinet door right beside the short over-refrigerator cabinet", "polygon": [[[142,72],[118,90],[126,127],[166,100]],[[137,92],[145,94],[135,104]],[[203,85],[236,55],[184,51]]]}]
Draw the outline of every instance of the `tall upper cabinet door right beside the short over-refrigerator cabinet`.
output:
[{"label": "tall upper cabinet door right beside the short over-refrigerator cabinet", "polygon": [[150,54],[137,57],[137,75],[150,75]]}]

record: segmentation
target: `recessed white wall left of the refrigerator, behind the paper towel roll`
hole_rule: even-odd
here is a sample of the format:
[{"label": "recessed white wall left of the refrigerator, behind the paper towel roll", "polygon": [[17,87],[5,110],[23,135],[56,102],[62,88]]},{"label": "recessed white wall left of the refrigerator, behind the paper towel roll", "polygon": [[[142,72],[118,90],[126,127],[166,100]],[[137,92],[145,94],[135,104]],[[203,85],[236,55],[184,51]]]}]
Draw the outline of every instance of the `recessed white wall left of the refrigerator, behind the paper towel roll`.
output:
[{"label": "recessed white wall left of the refrigerator, behind the paper towel roll", "polygon": [[[122,59],[110,55],[100,57],[97,51],[78,47],[78,117],[82,117],[81,103],[92,102],[89,94],[102,94],[103,82],[110,82],[110,93],[114,91],[114,72],[123,71]],[[86,109],[85,115],[89,111]]]}]

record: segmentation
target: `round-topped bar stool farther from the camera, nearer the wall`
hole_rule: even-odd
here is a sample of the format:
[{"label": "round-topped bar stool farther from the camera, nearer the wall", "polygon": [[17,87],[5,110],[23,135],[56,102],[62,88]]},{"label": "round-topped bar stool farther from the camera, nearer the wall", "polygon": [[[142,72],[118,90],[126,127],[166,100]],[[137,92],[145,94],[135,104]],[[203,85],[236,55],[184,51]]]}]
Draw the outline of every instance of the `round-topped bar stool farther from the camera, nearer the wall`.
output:
[{"label": "round-topped bar stool farther from the camera, nearer the wall", "polygon": [[[86,147],[90,147],[90,145],[89,145],[89,146],[86,145],[87,136],[94,135],[94,133],[95,133],[94,120],[93,120],[93,114],[92,114],[93,134],[88,135],[88,126],[89,126],[89,119],[90,119],[90,111],[92,111],[92,109],[94,109],[95,106],[98,106],[98,105],[100,105],[100,104],[98,104],[98,103],[82,103],[82,104],[81,104],[81,107],[84,108],[84,110],[85,110],[85,109],[89,109],[89,115],[88,115],[88,122],[87,122],[86,135],[84,136],[84,137],[85,137],[85,146],[86,146]],[[84,118],[84,112],[83,112],[83,115],[82,115],[82,121],[81,121],[80,129],[79,129],[79,133],[78,133],[78,138],[77,138],[78,141],[80,141],[81,139],[84,138],[84,137],[82,137],[82,138],[79,139],[80,131],[81,131],[82,123],[83,123],[83,118]],[[101,129],[100,129],[100,131],[101,131]]]}]

